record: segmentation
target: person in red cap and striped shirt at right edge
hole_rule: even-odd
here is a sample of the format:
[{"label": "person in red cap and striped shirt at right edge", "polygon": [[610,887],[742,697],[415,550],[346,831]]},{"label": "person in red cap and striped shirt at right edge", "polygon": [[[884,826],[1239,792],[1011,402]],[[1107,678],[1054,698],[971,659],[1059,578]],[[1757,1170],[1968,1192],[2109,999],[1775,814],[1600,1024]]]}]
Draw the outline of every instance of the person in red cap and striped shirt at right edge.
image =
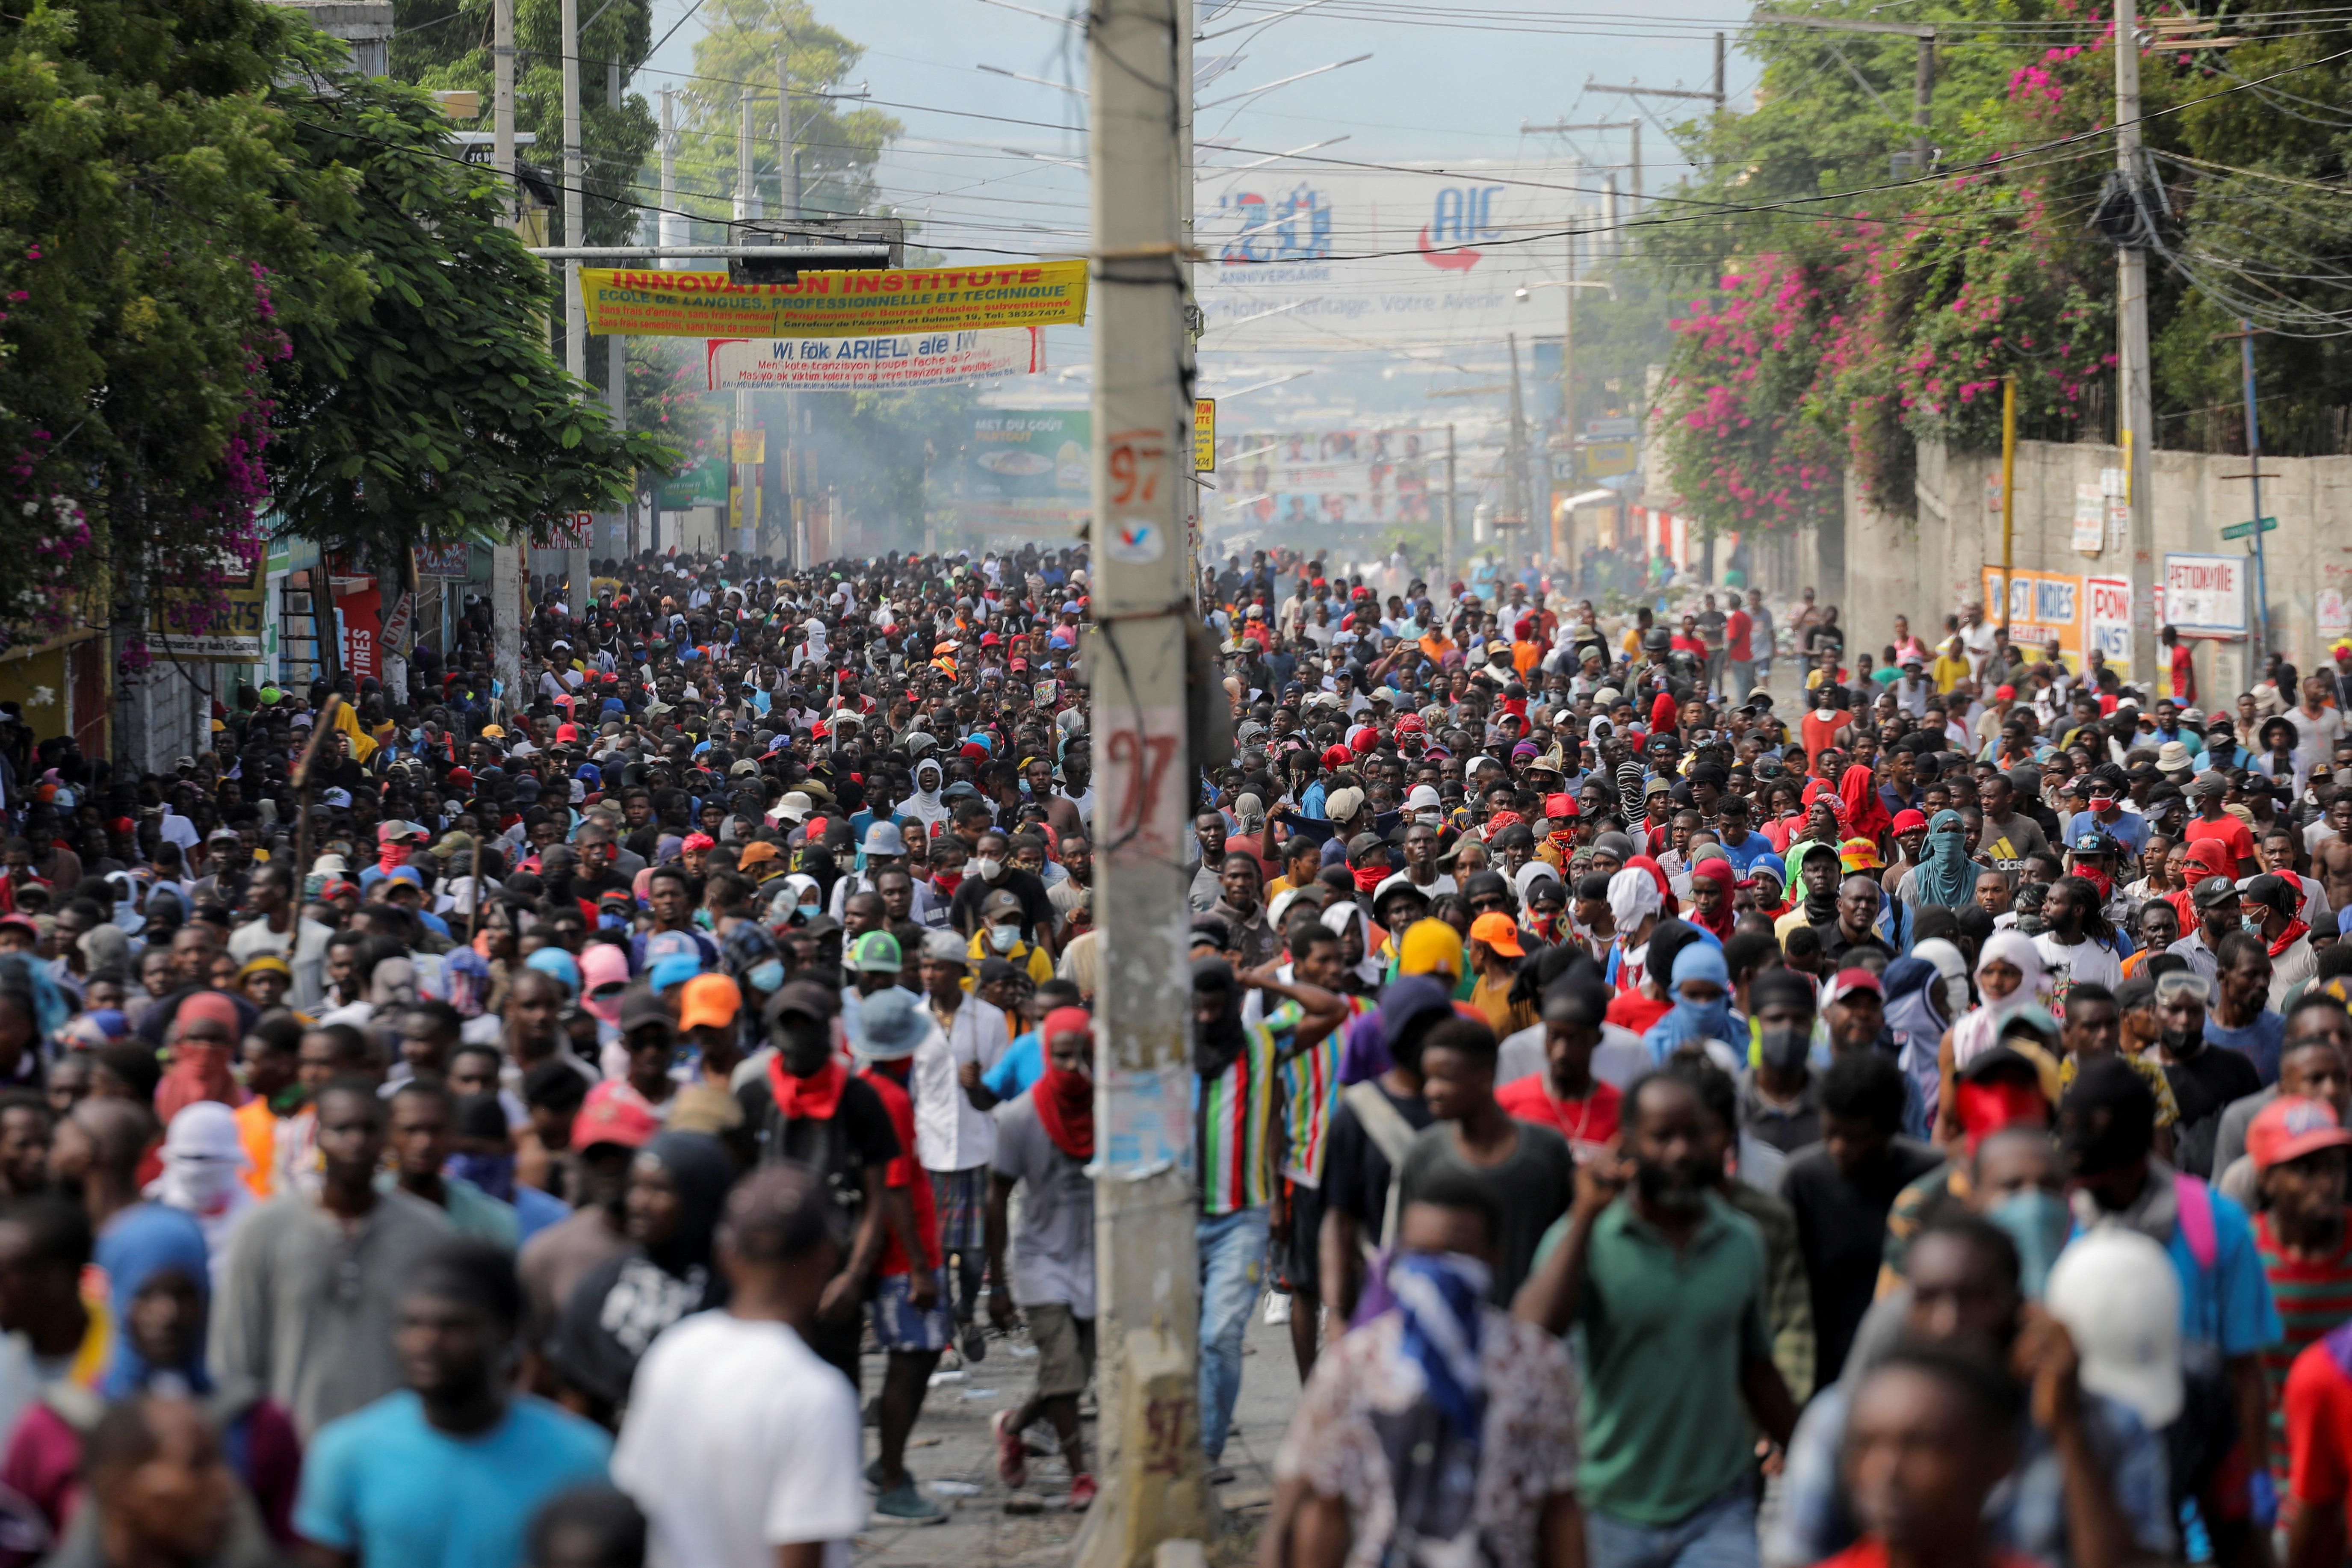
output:
[{"label": "person in red cap and striped shirt at right edge", "polygon": [[2270,1469],[2288,1490],[2286,1373],[2305,1345],[2352,1321],[2352,1225],[2345,1225],[2345,1154],[2352,1131],[2326,1100],[2279,1095],[2246,1128],[2263,1211],[2253,1244],[2286,1333],[2263,1349],[2270,1385]]}]

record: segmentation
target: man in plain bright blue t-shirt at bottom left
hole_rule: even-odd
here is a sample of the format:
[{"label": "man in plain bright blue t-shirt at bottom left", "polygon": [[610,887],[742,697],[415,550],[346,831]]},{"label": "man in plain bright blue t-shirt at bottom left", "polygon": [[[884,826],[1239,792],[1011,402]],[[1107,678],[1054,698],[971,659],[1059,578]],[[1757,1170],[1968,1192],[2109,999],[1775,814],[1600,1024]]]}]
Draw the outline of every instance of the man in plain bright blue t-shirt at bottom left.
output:
[{"label": "man in plain bright blue t-shirt at bottom left", "polygon": [[508,1253],[452,1237],[414,1269],[395,1347],[409,1387],[320,1427],[294,1530],[367,1568],[510,1568],[532,1514],[604,1481],[612,1439],[517,1394],[522,1286]]}]

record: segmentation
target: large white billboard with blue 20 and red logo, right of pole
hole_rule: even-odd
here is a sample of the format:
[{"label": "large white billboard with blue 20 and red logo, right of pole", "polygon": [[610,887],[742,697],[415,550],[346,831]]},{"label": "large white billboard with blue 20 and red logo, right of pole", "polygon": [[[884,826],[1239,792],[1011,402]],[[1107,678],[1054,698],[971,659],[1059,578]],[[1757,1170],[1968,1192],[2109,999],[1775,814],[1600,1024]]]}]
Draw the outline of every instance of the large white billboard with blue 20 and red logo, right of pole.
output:
[{"label": "large white billboard with blue 20 and red logo, right of pole", "polygon": [[1192,183],[1204,350],[1557,339],[1571,223],[1588,235],[1581,268],[1602,263],[1599,181],[1581,165],[1317,165],[1202,169]]}]

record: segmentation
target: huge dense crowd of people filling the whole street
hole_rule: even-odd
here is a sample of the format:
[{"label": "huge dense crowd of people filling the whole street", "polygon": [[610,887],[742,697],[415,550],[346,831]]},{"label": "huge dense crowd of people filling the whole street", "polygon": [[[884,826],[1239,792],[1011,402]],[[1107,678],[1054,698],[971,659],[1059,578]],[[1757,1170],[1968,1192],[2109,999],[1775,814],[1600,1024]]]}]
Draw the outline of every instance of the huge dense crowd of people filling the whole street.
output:
[{"label": "huge dense crowd of people filling the whole street", "polygon": [[[536,588],[169,778],[0,726],[9,1561],[840,1566],[1011,1349],[1094,1502],[1084,552]],[[1270,1568],[2345,1559],[2345,684],[1813,599],[1202,574]]]}]

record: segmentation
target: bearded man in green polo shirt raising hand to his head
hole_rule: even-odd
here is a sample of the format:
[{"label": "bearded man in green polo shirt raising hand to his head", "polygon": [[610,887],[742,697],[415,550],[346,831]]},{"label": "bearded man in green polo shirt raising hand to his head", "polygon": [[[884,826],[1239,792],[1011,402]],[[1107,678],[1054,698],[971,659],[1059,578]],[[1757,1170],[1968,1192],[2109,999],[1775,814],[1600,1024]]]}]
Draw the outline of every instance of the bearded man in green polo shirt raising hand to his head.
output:
[{"label": "bearded man in green polo shirt raising hand to his head", "polygon": [[1630,1168],[1578,1168],[1517,1302],[1552,1333],[1585,1331],[1585,1561],[1755,1568],[1750,1418],[1776,1443],[1797,1425],[1771,1363],[1764,1241],[1715,1192],[1717,1140],[1689,1084],[1637,1081],[1625,1147]]}]

